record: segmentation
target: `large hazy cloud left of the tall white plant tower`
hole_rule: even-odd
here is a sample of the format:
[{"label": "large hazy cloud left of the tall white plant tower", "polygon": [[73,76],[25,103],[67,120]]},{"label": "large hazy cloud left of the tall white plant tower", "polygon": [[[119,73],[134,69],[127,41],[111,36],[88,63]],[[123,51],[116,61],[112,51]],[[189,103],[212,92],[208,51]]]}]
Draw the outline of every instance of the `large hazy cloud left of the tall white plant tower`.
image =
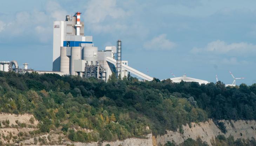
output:
[{"label": "large hazy cloud left of the tall white plant tower", "polygon": [[42,11],[21,11],[15,13],[13,20],[6,19],[6,24],[0,21],[0,32],[4,29],[9,32],[5,34],[7,38],[22,36],[19,40],[25,40],[26,36],[29,37],[26,40],[35,39],[47,43],[51,40],[53,21],[64,20],[66,14],[68,13],[57,2],[48,1]]}]

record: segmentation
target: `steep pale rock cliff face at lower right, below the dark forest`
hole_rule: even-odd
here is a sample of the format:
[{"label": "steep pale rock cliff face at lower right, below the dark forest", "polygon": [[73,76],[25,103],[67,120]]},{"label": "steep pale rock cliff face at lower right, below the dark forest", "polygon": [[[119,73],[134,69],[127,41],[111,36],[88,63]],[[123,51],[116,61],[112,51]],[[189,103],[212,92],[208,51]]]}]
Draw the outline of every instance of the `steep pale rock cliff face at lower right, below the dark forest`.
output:
[{"label": "steep pale rock cliff face at lower right, below the dark forest", "polygon": [[227,133],[222,133],[221,130],[214,124],[213,120],[209,119],[205,123],[191,123],[191,128],[187,124],[183,125],[184,133],[167,131],[164,135],[158,135],[156,137],[157,145],[164,145],[167,141],[174,140],[177,144],[182,143],[188,138],[196,139],[200,137],[203,141],[207,141],[211,145],[211,139],[214,139],[217,135],[223,134],[225,137],[233,135],[235,139],[244,138],[250,139],[251,137],[256,138],[256,121],[255,120],[238,120],[228,121],[221,120],[227,129]]}]

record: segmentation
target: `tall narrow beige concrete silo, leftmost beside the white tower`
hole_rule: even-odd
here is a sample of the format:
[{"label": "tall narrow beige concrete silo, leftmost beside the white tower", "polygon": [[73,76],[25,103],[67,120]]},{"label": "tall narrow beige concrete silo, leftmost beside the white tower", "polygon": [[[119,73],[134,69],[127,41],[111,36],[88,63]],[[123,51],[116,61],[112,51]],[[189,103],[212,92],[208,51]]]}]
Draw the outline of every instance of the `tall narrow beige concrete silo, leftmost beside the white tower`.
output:
[{"label": "tall narrow beige concrete silo, leftmost beside the white tower", "polygon": [[69,57],[67,47],[60,47],[60,71],[69,74]]}]

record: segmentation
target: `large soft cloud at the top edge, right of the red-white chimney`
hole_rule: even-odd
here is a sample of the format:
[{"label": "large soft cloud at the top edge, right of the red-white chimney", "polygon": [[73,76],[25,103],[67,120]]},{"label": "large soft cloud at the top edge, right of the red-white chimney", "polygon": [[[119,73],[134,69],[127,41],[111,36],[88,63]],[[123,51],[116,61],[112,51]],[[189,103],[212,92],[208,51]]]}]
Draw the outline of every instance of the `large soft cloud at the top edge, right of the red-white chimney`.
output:
[{"label": "large soft cloud at the top edge, right of the red-white chimney", "polygon": [[115,30],[125,31],[128,26],[120,21],[126,19],[130,12],[116,5],[116,0],[90,0],[82,15],[85,27],[94,33],[109,33]]}]

